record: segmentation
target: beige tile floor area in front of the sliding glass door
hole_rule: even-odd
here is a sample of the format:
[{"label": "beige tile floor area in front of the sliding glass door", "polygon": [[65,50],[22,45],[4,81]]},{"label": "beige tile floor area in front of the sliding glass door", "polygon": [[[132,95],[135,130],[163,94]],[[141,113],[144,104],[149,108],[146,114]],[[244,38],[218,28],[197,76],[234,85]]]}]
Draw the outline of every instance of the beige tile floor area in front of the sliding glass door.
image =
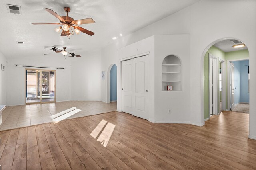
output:
[{"label": "beige tile floor area in front of the sliding glass door", "polygon": [[116,102],[67,101],[47,104],[8,106],[2,112],[2,125],[0,125],[0,131],[38,125],[41,123],[49,123],[52,121],[52,115],[72,107],[76,107],[81,111],[67,119],[116,111]]}]

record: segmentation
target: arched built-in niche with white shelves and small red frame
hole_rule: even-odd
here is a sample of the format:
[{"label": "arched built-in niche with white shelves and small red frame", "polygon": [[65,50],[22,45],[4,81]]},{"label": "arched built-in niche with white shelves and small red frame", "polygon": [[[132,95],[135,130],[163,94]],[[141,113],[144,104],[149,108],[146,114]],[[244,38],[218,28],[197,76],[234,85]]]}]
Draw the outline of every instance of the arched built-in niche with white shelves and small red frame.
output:
[{"label": "arched built-in niche with white shelves and small red frame", "polygon": [[175,55],[168,55],[162,63],[162,91],[182,91],[182,63]]}]

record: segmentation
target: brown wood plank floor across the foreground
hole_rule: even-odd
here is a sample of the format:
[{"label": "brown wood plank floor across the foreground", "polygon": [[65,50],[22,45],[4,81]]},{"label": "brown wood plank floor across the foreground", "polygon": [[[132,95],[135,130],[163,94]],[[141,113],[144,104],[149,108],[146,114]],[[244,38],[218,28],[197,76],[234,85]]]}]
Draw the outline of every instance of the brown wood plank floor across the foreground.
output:
[{"label": "brown wood plank floor across the foreground", "polygon": [[44,123],[2,131],[0,164],[2,170],[256,169],[248,118],[224,112],[197,127],[111,112]]}]

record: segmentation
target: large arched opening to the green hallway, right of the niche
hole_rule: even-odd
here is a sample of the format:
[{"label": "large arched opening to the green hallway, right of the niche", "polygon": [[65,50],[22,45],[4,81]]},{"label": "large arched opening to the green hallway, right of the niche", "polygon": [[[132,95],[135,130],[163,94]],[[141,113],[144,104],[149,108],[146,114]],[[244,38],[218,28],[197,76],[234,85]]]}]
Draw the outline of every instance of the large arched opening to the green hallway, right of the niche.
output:
[{"label": "large arched opening to the green hallway, right of the niche", "polygon": [[205,49],[203,59],[204,121],[222,111],[249,113],[249,52],[246,44],[234,38],[219,39]]}]

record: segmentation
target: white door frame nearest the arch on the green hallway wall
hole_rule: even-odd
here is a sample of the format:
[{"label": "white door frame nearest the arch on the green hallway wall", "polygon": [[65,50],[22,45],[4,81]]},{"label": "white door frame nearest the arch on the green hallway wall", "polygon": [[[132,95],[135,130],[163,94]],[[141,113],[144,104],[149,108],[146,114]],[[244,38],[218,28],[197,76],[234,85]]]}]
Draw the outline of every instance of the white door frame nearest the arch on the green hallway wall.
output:
[{"label": "white door frame nearest the arch on the green hallway wall", "polygon": [[[212,70],[210,67],[212,67]],[[217,57],[209,53],[209,118],[210,113],[218,115],[218,67]]]}]

